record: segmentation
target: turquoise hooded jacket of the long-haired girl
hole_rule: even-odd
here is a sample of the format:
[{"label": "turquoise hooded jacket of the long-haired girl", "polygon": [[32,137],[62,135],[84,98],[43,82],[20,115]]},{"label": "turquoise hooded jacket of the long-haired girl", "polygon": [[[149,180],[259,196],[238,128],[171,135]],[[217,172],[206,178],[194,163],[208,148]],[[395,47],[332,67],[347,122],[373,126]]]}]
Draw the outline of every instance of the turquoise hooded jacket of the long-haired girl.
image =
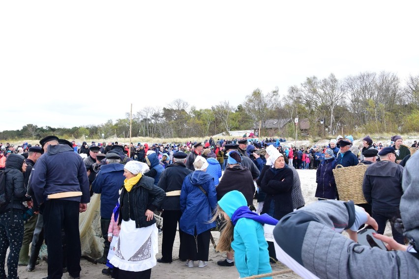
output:
[{"label": "turquoise hooded jacket of the long-haired girl", "polygon": [[[243,194],[235,190],[224,195],[218,201],[218,205],[231,219],[240,206],[247,206],[247,201]],[[231,247],[234,250],[240,278],[272,272],[269,264],[268,243],[261,223],[240,218],[234,227],[234,240]]]}]

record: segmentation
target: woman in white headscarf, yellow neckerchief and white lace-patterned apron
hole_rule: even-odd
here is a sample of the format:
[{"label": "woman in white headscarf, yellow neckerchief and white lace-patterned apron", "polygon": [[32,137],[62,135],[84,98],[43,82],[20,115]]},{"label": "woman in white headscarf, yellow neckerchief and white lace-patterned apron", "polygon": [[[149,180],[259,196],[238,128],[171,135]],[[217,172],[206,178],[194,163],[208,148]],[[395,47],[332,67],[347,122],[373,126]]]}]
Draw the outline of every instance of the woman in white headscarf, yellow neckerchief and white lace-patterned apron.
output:
[{"label": "woman in white headscarf, yellow neckerchief and white lace-patterned apron", "polygon": [[[120,194],[120,234],[115,255],[110,260],[118,278],[150,279],[156,265],[158,230],[153,211],[165,198],[164,191],[143,173],[145,163],[129,161],[124,166],[124,185]],[[114,268],[114,270],[116,270]]]}]

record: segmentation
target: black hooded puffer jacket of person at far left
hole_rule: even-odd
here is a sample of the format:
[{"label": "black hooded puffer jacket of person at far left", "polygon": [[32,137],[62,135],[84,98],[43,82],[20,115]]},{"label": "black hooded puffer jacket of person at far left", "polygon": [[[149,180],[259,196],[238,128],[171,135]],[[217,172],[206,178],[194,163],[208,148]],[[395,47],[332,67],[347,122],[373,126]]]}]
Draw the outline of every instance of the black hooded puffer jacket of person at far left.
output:
[{"label": "black hooded puffer jacket of person at far left", "polygon": [[26,201],[26,187],[22,172],[24,160],[25,158],[18,154],[10,154],[7,157],[5,168],[6,201],[11,201],[13,195],[13,204],[9,202],[3,211],[11,208],[25,210],[25,206],[22,204],[23,201]]}]

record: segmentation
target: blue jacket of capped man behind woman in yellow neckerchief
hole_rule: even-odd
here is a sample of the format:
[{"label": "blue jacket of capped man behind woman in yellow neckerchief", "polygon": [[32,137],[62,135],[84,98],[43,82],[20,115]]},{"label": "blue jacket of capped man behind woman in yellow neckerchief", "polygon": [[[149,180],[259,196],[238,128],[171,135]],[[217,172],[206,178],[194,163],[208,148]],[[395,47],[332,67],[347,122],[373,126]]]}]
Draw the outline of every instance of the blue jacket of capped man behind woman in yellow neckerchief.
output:
[{"label": "blue jacket of capped man behind woman in yellow neckerchief", "polygon": [[124,180],[122,164],[108,164],[100,167],[96,179],[91,184],[91,189],[94,193],[101,194],[100,216],[102,218],[111,219]]}]

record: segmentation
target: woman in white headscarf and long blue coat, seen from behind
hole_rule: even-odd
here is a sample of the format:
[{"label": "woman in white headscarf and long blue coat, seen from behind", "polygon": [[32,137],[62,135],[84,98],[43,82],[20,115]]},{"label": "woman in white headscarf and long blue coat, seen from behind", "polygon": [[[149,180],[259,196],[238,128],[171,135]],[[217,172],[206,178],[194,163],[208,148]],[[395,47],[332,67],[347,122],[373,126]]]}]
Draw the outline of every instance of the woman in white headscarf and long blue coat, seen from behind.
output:
[{"label": "woman in white headscarf and long blue coat, seen from behind", "polygon": [[202,156],[197,156],[193,163],[195,171],[188,174],[180,192],[179,228],[183,232],[180,241],[179,255],[186,259],[188,267],[205,267],[210,252],[210,229],[215,222],[210,222],[212,212],[217,206],[214,178],[206,172],[208,162]]}]

